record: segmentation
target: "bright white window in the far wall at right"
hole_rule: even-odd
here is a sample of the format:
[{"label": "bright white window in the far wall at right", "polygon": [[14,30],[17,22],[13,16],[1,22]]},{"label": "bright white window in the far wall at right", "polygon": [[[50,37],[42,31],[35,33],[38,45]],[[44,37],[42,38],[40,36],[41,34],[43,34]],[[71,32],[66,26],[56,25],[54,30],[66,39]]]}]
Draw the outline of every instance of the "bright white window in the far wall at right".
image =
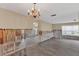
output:
[{"label": "bright white window in the far wall at right", "polygon": [[62,35],[79,35],[79,25],[62,26]]}]

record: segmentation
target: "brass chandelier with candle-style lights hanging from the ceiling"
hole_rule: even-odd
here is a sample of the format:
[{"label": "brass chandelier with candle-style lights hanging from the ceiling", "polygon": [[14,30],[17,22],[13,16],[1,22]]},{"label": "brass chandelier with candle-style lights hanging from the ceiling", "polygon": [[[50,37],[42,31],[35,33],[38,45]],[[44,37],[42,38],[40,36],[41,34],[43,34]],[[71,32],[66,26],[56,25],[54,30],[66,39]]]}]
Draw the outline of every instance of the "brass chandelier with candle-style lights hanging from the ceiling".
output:
[{"label": "brass chandelier with candle-style lights hanging from the ceiling", "polygon": [[28,15],[33,16],[34,18],[40,16],[40,10],[36,9],[36,3],[33,3],[33,7],[31,10],[28,10]]}]

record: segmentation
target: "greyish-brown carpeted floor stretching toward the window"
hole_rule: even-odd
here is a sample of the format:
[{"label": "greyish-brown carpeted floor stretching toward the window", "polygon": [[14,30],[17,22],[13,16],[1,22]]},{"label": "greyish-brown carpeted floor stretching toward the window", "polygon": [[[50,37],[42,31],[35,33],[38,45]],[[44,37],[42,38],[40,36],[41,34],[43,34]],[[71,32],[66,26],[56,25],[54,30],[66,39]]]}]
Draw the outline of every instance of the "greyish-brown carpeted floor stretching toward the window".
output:
[{"label": "greyish-brown carpeted floor stretching toward the window", "polygon": [[79,56],[79,41],[50,39],[27,48],[27,56]]}]

